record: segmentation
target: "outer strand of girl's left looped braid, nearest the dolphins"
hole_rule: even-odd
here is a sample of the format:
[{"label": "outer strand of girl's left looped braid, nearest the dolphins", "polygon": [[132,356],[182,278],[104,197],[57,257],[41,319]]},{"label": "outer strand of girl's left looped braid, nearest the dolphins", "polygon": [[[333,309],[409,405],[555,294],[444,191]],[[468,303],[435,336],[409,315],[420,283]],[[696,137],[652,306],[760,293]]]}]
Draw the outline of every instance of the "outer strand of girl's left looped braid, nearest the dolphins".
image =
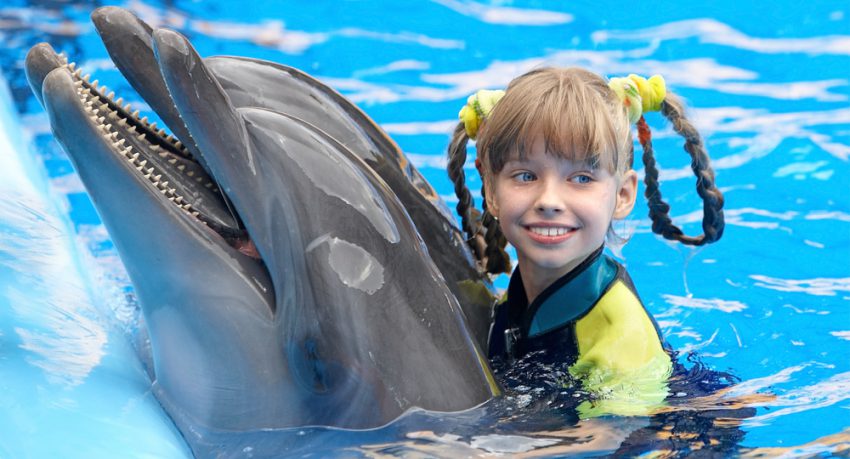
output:
[{"label": "outer strand of girl's left looped braid, nearest the dolphins", "polygon": [[456,209],[458,215],[460,215],[461,229],[466,235],[466,241],[472,248],[475,258],[480,261],[485,256],[486,247],[486,243],[481,237],[481,213],[475,208],[472,193],[466,186],[466,173],[463,171],[463,166],[466,164],[466,143],[468,141],[469,136],[466,133],[466,128],[463,123],[459,123],[449,144],[448,172],[449,178],[454,183],[455,195],[458,198]]}]

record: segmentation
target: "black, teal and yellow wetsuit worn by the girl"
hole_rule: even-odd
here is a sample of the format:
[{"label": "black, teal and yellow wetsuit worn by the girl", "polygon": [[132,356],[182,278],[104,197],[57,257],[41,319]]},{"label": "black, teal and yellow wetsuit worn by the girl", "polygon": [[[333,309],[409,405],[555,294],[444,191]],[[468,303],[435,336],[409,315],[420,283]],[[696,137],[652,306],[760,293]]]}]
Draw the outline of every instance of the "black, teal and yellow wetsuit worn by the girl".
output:
[{"label": "black, teal and yellow wetsuit worn by the girl", "polygon": [[[515,270],[507,298],[495,309],[489,355],[541,358],[568,364],[586,389],[607,394],[622,390],[628,400],[605,413],[643,414],[666,396],[672,370],[655,320],[638,297],[625,268],[602,248],[546,288],[528,304],[522,274]],[[638,394],[646,406],[633,403]],[[615,396],[616,398],[616,396]]]}]

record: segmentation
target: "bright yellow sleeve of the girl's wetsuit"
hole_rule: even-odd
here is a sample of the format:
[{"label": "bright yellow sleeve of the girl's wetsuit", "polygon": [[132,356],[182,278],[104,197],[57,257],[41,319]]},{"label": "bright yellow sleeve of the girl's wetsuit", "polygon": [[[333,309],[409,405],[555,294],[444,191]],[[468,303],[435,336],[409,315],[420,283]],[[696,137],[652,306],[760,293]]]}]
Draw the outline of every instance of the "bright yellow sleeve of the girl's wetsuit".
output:
[{"label": "bright yellow sleeve of the girl's wetsuit", "polygon": [[570,374],[596,400],[579,406],[582,417],[646,415],[663,406],[670,357],[636,295],[621,280],[576,323],[579,356]]}]

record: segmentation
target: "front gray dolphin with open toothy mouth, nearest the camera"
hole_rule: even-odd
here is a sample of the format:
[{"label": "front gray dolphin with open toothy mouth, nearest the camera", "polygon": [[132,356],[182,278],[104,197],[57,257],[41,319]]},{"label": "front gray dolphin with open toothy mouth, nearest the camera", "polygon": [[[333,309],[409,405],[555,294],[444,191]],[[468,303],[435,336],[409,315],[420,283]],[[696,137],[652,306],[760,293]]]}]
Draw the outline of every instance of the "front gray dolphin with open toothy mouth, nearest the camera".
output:
[{"label": "front gray dolphin with open toothy mouth, nearest the camera", "polygon": [[193,448],[205,431],[370,428],[496,394],[386,182],[296,116],[235,108],[181,35],[151,39],[164,84],[145,97],[174,107],[163,118],[185,146],[48,45],[27,76],[127,267],[154,391]]}]

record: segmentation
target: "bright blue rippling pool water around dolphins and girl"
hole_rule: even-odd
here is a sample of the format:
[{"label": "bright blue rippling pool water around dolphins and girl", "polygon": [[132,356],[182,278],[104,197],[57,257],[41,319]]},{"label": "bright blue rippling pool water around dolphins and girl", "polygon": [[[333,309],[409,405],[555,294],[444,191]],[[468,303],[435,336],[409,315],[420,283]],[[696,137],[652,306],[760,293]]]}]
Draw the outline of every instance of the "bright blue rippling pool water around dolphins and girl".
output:
[{"label": "bright blue rippling pool water around dolphins and girl", "polygon": [[[458,109],[475,90],[504,87],[547,64],[608,76],[662,74],[705,138],[726,196],[726,233],[701,249],[670,244],[650,232],[639,201],[620,228],[631,235],[622,259],[683,363],[695,365],[684,357],[690,354],[740,379],[722,398],[687,402],[688,416],[700,408],[753,408],[735,435],[720,436],[733,439],[739,454],[847,454],[846,1],[749,10],[733,1],[653,8],[462,0],[104,3],[180,30],[204,56],[268,59],[317,76],[373,117],[449,204],[456,199],[445,148]],[[126,274],[23,75],[26,51],[48,41],[134,102],[90,25],[93,7],[16,0],[0,7],[8,83],[0,86],[9,88],[0,98],[0,457],[187,457],[135,357],[144,336]],[[660,117],[648,121],[674,220],[698,233],[701,203],[687,155]],[[530,409],[534,400],[533,390],[518,390],[496,412]],[[523,425],[500,416],[485,407],[415,413],[370,432],[296,430],[282,450],[597,455],[652,425],[616,417],[559,425],[539,416]],[[670,443],[655,438],[649,451],[665,454]],[[249,443],[239,452],[254,453]]]}]

